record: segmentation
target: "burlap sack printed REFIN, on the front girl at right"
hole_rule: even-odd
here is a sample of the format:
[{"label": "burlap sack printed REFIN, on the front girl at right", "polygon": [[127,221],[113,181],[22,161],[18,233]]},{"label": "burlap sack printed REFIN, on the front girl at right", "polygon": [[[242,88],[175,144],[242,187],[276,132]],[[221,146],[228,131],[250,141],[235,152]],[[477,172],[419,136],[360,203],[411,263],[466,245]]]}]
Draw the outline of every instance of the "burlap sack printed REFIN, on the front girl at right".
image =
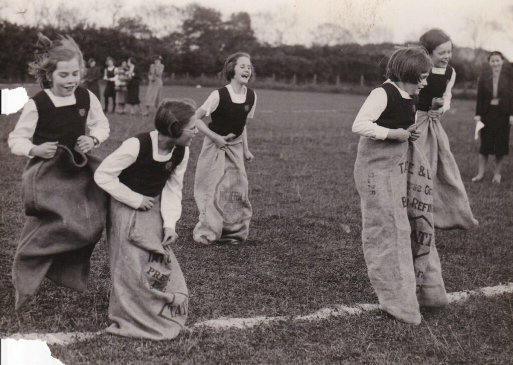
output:
[{"label": "burlap sack printed REFIN, on the front girl at right", "polygon": [[419,304],[448,303],[435,248],[429,164],[411,142],[361,137],[354,179],[363,252],[381,308],[418,324]]}]

